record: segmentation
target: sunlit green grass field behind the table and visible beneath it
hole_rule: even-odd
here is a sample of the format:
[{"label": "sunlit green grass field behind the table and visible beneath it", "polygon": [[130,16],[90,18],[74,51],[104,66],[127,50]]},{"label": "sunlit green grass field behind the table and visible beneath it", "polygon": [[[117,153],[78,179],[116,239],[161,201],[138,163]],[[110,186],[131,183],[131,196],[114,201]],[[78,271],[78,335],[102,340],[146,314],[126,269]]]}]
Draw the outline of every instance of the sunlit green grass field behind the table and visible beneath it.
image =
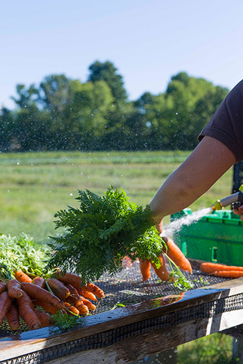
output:
[{"label": "sunlit green grass field behind the table and visible beneath it", "polygon": [[[57,233],[53,224],[56,211],[68,205],[78,206],[77,192],[86,188],[103,195],[110,185],[122,187],[131,201],[145,206],[188,154],[185,151],[0,154],[0,233],[24,232],[37,242],[47,242],[49,235]],[[232,183],[231,169],[190,207],[198,210],[211,206],[216,199],[231,194]],[[165,222],[169,222],[169,217]],[[178,347],[178,363],[229,363],[232,338],[220,334],[213,337]]]}]

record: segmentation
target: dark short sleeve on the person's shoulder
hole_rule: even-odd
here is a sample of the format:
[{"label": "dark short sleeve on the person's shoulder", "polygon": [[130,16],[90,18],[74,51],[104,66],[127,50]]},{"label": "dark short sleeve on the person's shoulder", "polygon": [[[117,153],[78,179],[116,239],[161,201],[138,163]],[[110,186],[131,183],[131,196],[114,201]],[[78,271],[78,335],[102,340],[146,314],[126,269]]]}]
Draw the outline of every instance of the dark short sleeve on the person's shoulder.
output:
[{"label": "dark short sleeve on the person's shoulder", "polygon": [[208,125],[199,134],[199,141],[208,135],[222,142],[243,160],[243,80],[228,93]]}]

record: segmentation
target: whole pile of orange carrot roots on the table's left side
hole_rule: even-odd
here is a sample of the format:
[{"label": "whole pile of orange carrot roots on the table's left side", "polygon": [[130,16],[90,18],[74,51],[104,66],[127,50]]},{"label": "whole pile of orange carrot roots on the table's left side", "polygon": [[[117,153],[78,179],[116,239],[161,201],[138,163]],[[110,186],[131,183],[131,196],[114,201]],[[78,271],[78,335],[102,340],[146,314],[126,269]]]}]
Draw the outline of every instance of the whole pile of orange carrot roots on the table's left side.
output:
[{"label": "whole pile of orange carrot roots on the table's left side", "polygon": [[0,282],[0,325],[6,317],[12,330],[19,329],[19,317],[33,330],[53,324],[52,315],[58,311],[87,315],[96,309],[92,301],[104,297],[103,290],[93,283],[81,286],[81,277],[76,274],[58,271],[55,278],[47,280],[41,276],[31,279],[21,270],[14,275],[8,283]]}]

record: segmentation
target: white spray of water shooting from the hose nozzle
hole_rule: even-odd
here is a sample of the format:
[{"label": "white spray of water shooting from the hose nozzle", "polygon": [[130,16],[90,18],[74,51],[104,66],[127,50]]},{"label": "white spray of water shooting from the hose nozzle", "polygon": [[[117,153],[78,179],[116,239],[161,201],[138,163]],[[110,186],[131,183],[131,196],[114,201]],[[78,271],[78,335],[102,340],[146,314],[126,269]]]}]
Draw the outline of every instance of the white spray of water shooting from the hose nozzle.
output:
[{"label": "white spray of water shooting from the hose nozzle", "polygon": [[163,226],[163,231],[160,234],[160,236],[167,236],[168,238],[171,238],[173,233],[177,233],[180,231],[183,226],[189,226],[190,224],[193,224],[194,222],[198,221],[206,215],[207,213],[211,213],[212,208],[201,208],[201,210],[194,211],[193,213],[183,216],[179,219],[173,220],[169,222],[169,224]]}]

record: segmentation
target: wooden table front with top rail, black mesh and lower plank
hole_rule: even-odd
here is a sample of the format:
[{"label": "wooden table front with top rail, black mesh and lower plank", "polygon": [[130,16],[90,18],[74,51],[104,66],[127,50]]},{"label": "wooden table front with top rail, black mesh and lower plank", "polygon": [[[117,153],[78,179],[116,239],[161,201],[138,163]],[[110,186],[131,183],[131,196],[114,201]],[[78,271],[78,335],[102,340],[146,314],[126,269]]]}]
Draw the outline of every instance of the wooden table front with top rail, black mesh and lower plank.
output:
[{"label": "wooden table front with top rail, black mesh and lower plank", "polygon": [[90,315],[65,333],[51,326],[2,338],[0,364],[131,363],[240,324],[243,279],[232,279]]}]

